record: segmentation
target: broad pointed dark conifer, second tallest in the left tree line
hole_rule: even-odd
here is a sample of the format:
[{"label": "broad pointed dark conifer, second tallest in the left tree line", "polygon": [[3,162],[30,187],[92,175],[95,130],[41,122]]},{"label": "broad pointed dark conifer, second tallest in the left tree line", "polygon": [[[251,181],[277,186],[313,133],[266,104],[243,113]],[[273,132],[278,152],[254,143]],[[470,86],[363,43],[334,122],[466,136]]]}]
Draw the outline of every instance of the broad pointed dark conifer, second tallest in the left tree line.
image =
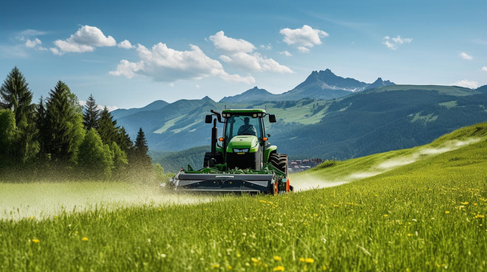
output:
[{"label": "broad pointed dark conifer, second tallest in the left tree line", "polygon": [[50,133],[46,149],[52,159],[75,157],[84,137],[82,109],[76,95],[59,80],[46,102],[46,129]]}]

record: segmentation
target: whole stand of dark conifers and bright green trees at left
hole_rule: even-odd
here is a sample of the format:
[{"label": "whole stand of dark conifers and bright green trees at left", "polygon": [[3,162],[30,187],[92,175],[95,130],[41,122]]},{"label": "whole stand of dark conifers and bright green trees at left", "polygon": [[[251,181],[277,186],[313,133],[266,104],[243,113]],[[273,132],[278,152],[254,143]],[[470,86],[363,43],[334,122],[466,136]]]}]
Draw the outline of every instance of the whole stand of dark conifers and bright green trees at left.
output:
[{"label": "whole stand of dark conifers and bright green trees at left", "polygon": [[32,95],[26,78],[14,67],[0,86],[0,174],[118,179],[162,173],[147,154],[142,128],[132,142],[92,95],[83,107],[61,80],[37,104]]}]

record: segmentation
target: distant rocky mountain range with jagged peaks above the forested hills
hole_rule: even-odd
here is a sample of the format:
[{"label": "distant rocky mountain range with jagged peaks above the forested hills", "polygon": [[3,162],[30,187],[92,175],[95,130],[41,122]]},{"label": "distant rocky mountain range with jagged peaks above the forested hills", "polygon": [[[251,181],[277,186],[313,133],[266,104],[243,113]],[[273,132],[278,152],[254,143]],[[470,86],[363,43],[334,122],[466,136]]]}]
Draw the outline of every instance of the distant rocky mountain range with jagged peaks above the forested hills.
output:
[{"label": "distant rocky mountain range with jagged peaks above the forested hills", "polygon": [[303,98],[334,99],[350,95],[354,92],[394,85],[394,82],[377,78],[373,83],[365,83],[354,78],[343,78],[335,75],[330,69],[312,71],[299,85],[285,93],[274,95],[265,89],[255,86],[236,96],[224,97],[222,103],[254,102],[254,101],[291,101]]}]

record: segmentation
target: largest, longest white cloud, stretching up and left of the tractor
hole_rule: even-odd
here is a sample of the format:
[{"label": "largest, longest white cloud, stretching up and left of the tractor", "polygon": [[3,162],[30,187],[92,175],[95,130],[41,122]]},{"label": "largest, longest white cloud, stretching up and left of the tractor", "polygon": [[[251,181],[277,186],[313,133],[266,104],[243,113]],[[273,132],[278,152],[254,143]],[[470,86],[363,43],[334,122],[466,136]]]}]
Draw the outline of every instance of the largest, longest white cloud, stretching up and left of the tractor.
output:
[{"label": "largest, longest white cloud, stretching up and left of the tractor", "polygon": [[159,42],[152,49],[147,49],[138,44],[136,52],[140,61],[121,60],[117,69],[110,74],[128,78],[140,74],[164,82],[200,79],[207,76],[218,76],[227,81],[247,84],[255,82],[255,78],[250,75],[228,74],[219,61],[206,56],[199,47],[190,44],[190,48],[189,51],[178,51]]}]

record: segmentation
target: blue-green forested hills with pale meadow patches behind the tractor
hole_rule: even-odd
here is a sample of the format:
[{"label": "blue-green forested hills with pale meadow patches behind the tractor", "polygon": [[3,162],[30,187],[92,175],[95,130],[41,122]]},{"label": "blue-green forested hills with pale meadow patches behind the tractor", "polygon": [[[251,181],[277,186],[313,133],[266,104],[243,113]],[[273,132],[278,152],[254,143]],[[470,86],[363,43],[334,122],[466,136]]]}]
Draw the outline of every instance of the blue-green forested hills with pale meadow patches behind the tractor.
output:
[{"label": "blue-green forested hills with pale meadow patches behind the tractor", "polygon": [[484,88],[390,85],[335,100],[253,104],[181,100],[118,121],[133,132],[142,125],[152,151],[180,151],[210,143],[211,126],[203,120],[211,109],[267,108],[278,122],[266,121],[266,132],[280,152],[295,158],[346,159],[422,145],[459,127],[486,121]]}]

